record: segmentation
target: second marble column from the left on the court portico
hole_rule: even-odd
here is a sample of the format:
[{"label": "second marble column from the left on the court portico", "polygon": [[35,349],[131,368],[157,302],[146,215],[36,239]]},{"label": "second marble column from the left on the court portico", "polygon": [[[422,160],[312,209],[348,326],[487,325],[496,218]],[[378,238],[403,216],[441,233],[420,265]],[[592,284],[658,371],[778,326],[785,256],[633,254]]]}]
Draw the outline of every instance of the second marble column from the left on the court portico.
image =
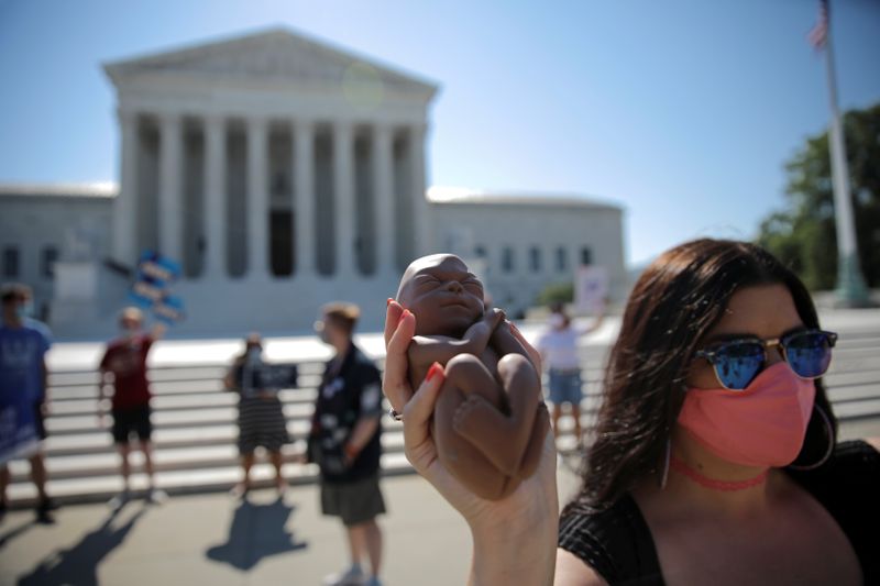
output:
[{"label": "second marble column from the left on the court portico", "polygon": [[158,248],[183,262],[182,143],[180,117],[160,117]]}]

